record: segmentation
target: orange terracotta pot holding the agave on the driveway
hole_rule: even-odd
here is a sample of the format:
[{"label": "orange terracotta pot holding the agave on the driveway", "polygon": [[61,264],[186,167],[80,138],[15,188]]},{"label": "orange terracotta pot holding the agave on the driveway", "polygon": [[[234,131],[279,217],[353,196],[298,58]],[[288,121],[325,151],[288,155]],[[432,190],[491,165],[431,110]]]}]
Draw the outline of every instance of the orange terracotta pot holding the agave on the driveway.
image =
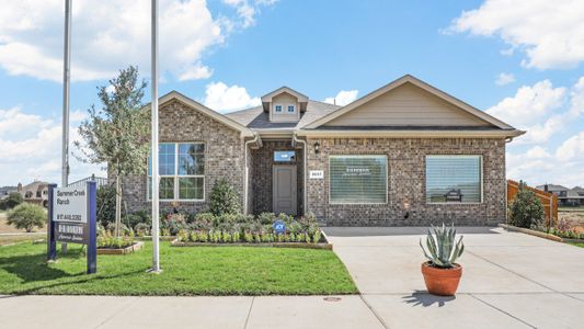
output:
[{"label": "orange terracotta pot holding the agave on the driveway", "polygon": [[462,266],[455,263],[453,269],[438,269],[430,265],[430,262],[423,262],[422,274],[424,274],[428,293],[438,296],[454,296],[462,275]]}]

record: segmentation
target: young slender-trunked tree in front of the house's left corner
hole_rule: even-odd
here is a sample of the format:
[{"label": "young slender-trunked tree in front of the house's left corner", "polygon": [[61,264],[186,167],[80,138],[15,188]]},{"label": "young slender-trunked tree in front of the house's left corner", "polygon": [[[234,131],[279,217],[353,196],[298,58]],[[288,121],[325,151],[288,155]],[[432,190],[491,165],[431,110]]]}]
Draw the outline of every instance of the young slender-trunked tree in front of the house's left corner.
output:
[{"label": "young slender-trunked tree in front of the house's left corner", "polygon": [[79,127],[84,143],[75,143],[81,161],[105,162],[108,173],[115,177],[116,236],[122,223],[122,181],[145,173],[147,166],[150,116],[148,111],[140,111],[146,86],[146,81],[138,80],[138,69],[130,66],[110,80],[110,86],[99,87],[102,107],[91,105],[89,118]]}]

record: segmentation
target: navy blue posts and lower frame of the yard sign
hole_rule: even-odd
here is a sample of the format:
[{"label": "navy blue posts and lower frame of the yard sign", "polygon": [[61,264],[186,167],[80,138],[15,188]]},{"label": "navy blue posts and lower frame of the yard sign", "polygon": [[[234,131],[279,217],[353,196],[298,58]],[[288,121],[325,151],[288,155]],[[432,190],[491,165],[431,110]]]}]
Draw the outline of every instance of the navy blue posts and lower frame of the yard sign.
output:
[{"label": "navy blue posts and lower frame of the yard sign", "polygon": [[[88,181],[84,192],[87,206],[84,209],[87,223],[79,223],[67,219],[55,220],[55,217],[59,214],[56,214],[55,209],[55,197],[58,192],[57,184],[48,185],[48,228],[47,228],[47,261],[54,262],[57,260],[57,241],[70,242],[70,243],[81,243],[88,246],[88,266],[87,273],[92,274],[98,271],[98,232],[96,232],[96,196],[98,196],[98,185],[95,181]],[[82,231],[81,240],[71,240],[69,238],[59,239],[57,235],[57,229],[60,226],[67,226],[67,228],[77,228]],[[62,230],[62,228],[60,228]],[[75,236],[72,234],[71,236]],[[69,237],[69,235],[67,235]]]}]

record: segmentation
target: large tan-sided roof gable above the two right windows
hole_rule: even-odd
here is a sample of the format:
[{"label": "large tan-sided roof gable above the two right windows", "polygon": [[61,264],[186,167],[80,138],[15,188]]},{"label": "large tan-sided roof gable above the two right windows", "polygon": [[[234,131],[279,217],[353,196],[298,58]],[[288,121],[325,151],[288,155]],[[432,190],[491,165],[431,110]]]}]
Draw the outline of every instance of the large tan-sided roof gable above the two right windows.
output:
[{"label": "large tan-sided roof gable above the two right windows", "polygon": [[508,124],[409,75],[308,124],[305,128],[318,128],[323,125],[454,125],[514,129]]}]

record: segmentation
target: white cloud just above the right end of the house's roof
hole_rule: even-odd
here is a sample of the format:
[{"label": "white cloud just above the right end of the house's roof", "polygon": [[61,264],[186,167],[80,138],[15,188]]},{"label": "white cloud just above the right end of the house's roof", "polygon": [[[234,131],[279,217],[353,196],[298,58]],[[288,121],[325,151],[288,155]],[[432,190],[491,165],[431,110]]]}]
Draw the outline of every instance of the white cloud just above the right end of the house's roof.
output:
[{"label": "white cloud just above the right end of the house's roof", "polygon": [[553,88],[549,80],[523,86],[514,97],[505,98],[486,112],[516,127],[528,127],[541,122],[564,103],[565,88]]}]

